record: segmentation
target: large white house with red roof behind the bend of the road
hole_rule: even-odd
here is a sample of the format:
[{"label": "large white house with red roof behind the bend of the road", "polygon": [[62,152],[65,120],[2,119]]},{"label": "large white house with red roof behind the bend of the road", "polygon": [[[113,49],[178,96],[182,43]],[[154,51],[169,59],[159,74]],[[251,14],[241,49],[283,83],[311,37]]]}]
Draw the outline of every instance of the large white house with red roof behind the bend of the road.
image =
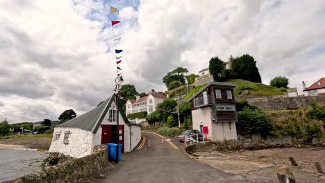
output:
[{"label": "large white house with red roof behind the bend of the road", "polygon": [[126,115],[144,111],[150,114],[156,111],[157,105],[163,103],[166,98],[163,94],[154,91],[151,91],[148,96],[141,98],[140,96],[136,96],[136,100],[131,99],[126,101]]}]

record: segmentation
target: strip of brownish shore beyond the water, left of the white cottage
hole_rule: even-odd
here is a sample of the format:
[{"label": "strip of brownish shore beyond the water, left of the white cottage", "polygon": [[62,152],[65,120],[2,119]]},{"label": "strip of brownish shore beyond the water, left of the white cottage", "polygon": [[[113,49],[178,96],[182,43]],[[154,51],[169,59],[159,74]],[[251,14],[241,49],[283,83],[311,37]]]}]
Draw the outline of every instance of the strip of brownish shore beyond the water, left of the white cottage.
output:
[{"label": "strip of brownish shore beyond the water, left of the white cottage", "polygon": [[2,144],[10,144],[10,145],[20,145],[25,148],[32,148],[38,150],[49,150],[51,146],[51,138],[42,138],[42,139],[0,139],[0,143]]}]

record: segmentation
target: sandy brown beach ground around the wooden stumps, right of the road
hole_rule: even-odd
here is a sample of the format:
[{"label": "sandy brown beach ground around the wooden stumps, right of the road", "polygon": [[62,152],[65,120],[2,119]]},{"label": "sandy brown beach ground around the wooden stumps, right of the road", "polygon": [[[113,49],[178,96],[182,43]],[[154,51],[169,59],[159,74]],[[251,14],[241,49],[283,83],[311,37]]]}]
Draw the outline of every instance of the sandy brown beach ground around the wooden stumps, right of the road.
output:
[{"label": "sandy brown beach ground around the wooden stumps, right of the road", "polygon": [[[290,165],[293,156],[299,166],[290,166],[296,182],[325,182],[325,175],[317,175],[313,162],[325,166],[325,148],[274,148],[266,150],[245,150],[231,153],[194,153],[193,158],[214,168],[233,173],[247,182],[278,182],[277,169]],[[322,159],[322,158],[323,159]]]}]

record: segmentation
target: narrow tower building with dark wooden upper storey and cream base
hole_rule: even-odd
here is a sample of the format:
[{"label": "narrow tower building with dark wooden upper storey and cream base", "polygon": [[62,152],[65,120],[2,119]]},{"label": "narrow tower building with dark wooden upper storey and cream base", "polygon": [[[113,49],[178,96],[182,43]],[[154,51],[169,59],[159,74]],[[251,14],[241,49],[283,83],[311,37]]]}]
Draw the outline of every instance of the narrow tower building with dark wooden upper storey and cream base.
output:
[{"label": "narrow tower building with dark wooden upper storey and cream base", "polygon": [[210,82],[188,101],[192,108],[193,129],[208,129],[212,141],[237,139],[238,121],[233,88],[235,84]]}]

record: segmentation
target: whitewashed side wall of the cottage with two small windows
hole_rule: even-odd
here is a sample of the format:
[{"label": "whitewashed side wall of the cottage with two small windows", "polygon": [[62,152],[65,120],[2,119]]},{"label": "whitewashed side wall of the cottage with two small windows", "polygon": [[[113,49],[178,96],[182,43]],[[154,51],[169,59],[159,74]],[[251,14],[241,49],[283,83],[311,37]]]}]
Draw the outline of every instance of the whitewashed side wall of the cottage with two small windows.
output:
[{"label": "whitewashed side wall of the cottage with two small windows", "polygon": [[[63,143],[65,131],[70,131],[69,143]],[[60,133],[60,139],[55,140],[56,133]],[[49,148],[49,153],[63,153],[71,157],[84,157],[92,153],[92,132],[81,130],[79,128],[54,128],[53,139]]]}]

